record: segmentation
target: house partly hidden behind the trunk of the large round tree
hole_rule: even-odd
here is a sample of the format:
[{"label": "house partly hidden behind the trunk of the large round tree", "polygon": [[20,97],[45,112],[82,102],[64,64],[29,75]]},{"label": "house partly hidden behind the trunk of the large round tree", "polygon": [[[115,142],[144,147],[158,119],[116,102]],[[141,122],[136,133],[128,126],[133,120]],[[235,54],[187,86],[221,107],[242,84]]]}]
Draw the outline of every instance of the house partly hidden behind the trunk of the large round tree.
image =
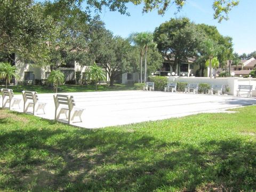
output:
[{"label": "house partly hidden behind the trunk of the large round tree", "polygon": [[173,70],[174,65],[174,58],[172,59],[165,59],[163,62],[163,66],[156,71],[156,75],[159,76],[168,76],[168,73],[172,74],[185,74],[185,76],[195,75],[198,66],[195,65],[195,58],[187,58],[187,61],[181,62],[179,65],[179,69],[177,68],[175,71]]}]

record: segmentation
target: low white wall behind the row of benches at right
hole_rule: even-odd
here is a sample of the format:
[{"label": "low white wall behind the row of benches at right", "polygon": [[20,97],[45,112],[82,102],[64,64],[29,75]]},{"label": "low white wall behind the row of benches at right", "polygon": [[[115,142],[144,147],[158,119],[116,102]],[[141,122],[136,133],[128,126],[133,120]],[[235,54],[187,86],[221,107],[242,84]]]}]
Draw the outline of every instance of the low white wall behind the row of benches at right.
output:
[{"label": "low white wall behind the row of benches at right", "polygon": [[229,95],[236,95],[238,85],[253,85],[253,90],[256,89],[256,78],[240,78],[240,77],[178,77],[171,76],[169,82],[188,82],[188,83],[208,83],[213,85],[228,85]]}]

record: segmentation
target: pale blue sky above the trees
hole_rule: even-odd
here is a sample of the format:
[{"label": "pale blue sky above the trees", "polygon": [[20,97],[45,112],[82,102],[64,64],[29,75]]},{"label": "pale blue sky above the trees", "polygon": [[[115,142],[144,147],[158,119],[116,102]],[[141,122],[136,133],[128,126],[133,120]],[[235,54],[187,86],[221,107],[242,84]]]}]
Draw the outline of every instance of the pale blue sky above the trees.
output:
[{"label": "pale blue sky above the trees", "polygon": [[213,0],[188,0],[178,14],[174,14],[177,9],[173,6],[163,17],[157,11],[142,14],[142,5],[127,4],[130,17],[108,9],[103,9],[100,17],[107,29],[124,38],[133,32],[153,32],[161,23],[171,18],[187,17],[195,23],[216,26],[220,34],[232,37],[234,51],[239,54],[256,51],[256,0],[240,0],[239,5],[229,13],[229,20],[221,23],[213,19],[212,2]]}]

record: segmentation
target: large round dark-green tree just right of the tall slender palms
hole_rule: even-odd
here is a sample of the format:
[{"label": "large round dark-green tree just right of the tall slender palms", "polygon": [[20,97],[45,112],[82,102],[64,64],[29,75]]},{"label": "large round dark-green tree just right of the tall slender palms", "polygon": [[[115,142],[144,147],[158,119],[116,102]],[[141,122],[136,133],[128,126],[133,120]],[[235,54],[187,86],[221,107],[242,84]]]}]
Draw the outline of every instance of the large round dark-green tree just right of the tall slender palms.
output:
[{"label": "large round dark-green tree just right of the tall slender palms", "polygon": [[178,73],[181,61],[196,56],[201,34],[188,18],[171,19],[155,29],[154,40],[166,59],[173,59],[173,71]]}]

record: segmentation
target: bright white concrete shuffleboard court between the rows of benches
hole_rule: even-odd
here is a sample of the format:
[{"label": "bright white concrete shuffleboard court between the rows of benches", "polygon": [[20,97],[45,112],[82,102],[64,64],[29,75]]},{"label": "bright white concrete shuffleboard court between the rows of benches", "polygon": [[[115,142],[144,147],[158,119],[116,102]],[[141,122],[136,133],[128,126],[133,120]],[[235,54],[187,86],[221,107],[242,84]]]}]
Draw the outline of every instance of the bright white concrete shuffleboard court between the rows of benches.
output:
[{"label": "bright white concrete shuffleboard court between the rows of benches", "polygon": [[[73,125],[85,128],[124,125],[181,117],[198,113],[216,113],[229,108],[256,104],[255,98],[184,94],[158,91],[106,91],[61,93],[73,95],[76,107],[84,108],[82,123]],[[22,95],[15,95],[22,98]],[[39,101],[46,102],[42,118],[54,119],[53,94],[38,94]],[[21,109],[13,109],[22,112]],[[16,106],[15,106],[16,107]],[[41,112],[41,111],[38,111]],[[65,115],[60,116],[64,119]]]}]

